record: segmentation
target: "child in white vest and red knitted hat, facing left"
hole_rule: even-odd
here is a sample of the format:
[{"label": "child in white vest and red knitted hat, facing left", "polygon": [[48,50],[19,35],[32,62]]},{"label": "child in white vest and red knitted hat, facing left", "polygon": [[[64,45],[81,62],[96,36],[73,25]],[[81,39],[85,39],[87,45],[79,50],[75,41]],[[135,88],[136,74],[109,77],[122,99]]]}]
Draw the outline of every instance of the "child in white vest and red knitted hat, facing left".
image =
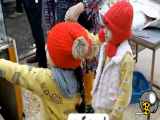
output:
[{"label": "child in white vest and red knitted hat, facing left", "polygon": [[102,19],[104,28],[99,38],[104,43],[92,89],[92,106],[96,112],[108,113],[110,120],[122,120],[132,94],[134,60],[128,39],[133,8],[129,2],[117,2]]}]

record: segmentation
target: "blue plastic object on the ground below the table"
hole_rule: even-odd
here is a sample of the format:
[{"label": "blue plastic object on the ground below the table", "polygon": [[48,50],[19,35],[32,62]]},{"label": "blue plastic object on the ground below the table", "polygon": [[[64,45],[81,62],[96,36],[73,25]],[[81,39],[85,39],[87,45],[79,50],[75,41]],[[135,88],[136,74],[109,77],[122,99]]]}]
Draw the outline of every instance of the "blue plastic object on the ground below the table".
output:
[{"label": "blue plastic object on the ground below the table", "polygon": [[132,88],[131,104],[139,103],[142,94],[152,89],[145,76],[138,71],[133,72]]}]

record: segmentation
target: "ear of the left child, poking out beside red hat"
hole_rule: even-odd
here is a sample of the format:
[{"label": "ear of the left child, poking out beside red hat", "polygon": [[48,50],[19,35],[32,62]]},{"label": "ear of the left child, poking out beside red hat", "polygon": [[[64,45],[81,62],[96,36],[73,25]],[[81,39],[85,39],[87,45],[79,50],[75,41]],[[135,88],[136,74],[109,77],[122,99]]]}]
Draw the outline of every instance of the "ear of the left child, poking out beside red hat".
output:
[{"label": "ear of the left child, poking out beside red hat", "polygon": [[89,44],[84,37],[78,37],[72,46],[72,55],[75,59],[83,59],[89,51]]}]

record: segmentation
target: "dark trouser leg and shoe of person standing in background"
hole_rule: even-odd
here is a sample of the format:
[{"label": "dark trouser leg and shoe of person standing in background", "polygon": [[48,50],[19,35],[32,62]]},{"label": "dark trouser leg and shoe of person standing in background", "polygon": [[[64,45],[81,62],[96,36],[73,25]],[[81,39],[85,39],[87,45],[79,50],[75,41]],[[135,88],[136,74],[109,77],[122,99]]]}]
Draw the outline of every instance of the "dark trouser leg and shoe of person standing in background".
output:
[{"label": "dark trouser leg and shoe of person standing in background", "polygon": [[36,57],[28,59],[27,62],[38,62],[39,67],[46,68],[45,37],[42,28],[42,0],[23,0],[23,4],[36,45]]}]

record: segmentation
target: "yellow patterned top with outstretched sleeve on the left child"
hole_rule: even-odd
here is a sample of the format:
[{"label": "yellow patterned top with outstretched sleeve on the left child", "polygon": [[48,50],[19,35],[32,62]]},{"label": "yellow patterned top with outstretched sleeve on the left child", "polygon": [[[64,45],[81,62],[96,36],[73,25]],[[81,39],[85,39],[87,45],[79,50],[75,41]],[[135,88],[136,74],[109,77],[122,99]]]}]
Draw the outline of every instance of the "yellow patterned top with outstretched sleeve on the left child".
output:
[{"label": "yellow patterned top with outstretched sleeve on the left child", "polygon": [[6,80],[29,89],[41,98],[44,105],[42,120],[67,120],[68,114],[76,111],[79,93],[71,98],[64,97],[51,70],[0,59],[0,71]]}]

